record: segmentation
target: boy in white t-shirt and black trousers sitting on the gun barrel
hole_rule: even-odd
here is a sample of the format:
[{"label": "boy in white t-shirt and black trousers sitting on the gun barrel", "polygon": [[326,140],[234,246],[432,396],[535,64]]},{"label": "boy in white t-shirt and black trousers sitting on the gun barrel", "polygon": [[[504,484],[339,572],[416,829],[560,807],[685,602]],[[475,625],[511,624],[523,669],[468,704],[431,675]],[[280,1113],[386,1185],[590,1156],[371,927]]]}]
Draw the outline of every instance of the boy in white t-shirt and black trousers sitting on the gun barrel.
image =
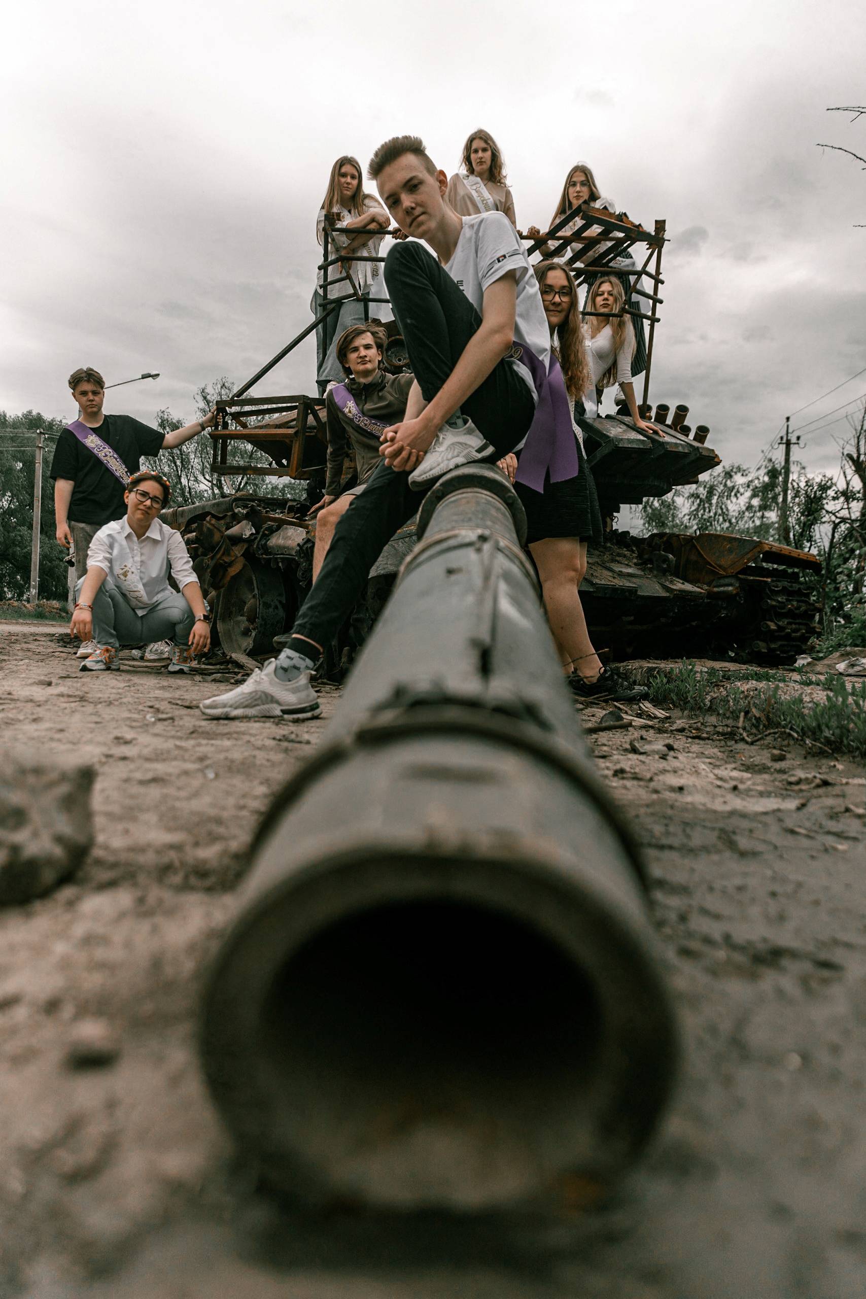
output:
[{"label": "boy in white t-shirt and black trousers sitting on the gun barrel", "polygon": [[382,144],[369,171],[391,218],[412,236],[391,248],[384,266],[414,372],[406,412],[383,431],[380,464],[339,520],[290,643],[243,686],[206,699],[206,717],[318,716],[315,661],[386,544],[449,469],[499,461],[526,442],[518,477],[526,469],[543,482],[548,470],[552,478],[578,472],[567,408],[561,425],[541,418],[551,331],[512,222],[501,212],[458,216],[445,199],[448,177],[417,135]]}]

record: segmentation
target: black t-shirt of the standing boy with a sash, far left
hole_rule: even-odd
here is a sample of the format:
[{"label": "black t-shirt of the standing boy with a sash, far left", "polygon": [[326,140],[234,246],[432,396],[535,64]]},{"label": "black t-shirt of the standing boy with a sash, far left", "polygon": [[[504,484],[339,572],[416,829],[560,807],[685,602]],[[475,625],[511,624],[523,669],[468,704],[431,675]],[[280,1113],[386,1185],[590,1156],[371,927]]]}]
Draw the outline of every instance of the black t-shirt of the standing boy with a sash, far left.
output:
[{"label": "black t-shirt of the standing boy with a sash, far left", "polygon": [[[158,429],[148,429],[129,414],[104,416],[93,433],[117,452],[130,474],[138,472],[142,456],[156,456],[165,438]],[[123,483],[69,429],[64,429],[57,439],[51,477],[71,478],[75,483],[69,503],[69,518],[74,523],[97,523],[101,527],[126,513]]]}]

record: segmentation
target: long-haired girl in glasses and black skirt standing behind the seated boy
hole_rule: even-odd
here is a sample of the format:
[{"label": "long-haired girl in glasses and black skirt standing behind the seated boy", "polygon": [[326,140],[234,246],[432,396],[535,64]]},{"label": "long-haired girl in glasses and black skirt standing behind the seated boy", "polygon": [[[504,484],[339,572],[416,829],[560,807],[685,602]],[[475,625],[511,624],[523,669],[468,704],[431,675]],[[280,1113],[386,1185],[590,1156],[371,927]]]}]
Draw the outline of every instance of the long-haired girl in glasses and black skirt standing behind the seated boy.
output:
[{"label": "long-haired girl in glasses and black skirt standing behind the seated boy", "polygon": [[[574,418],[575,403],[580,403],[583,394],[592,388],[578,287],[571,271],[558,261],[543,261],[532,269],[571,408],[578,473],[562,482],[548,479],[543,492],[527,487],[519,478],[514,487],[526,511],[530,553],[541,579],[544,608],[569,683],[580,698],[612,698],[617,685],[601,666],[592,646],[578,592],[587,570],[587,542],[601,540],[596,486],[583,449],[583,435]],[[582,409],[578,405],[578,410]]]}]

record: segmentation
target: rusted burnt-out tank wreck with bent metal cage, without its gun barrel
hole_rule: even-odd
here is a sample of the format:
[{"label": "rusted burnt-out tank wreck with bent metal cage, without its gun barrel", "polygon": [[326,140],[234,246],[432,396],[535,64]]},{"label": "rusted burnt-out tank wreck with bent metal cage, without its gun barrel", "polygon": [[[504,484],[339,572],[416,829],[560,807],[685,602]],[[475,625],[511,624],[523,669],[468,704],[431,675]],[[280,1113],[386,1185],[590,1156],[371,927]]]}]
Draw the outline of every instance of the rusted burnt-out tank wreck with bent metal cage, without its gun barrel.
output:
[{"label": "rusted burnt-out tank wreck with bent metal cage, without its gun barrel", "polygon": [[[560,227],[580,223],[563,242]],[[387,231],[386,234],[390,234]],[[518,231],[519,234],[519,231]],[[554,238],[556,236],[556,238]],[[323,247],[322,268],[339,262]],[[548,240],[553,255],[569,261],[580,281],[591,271],[608,270],[621,278],[623,256],[645,252],[643,265],[631,271],[628,313],[648,322],[644,401],[649,388],[653,339],[662,303],[661,255],[665,222],[653,231],[635,225],[623,213],[612,214],[584,205],[567,213],[547,234],[522,236],[527,252]],[[574,249],[578,248],[578,252]],[[379,259],[382,260],[382,259]],[[632,260],[632,265],[636,265]],[[334,281],[339,284],[343,277]],[[652,283],[653,292],[643,287]],[[327,286],[323,286],[326,290]],[[357,294],[352,283],[352,292]],[[347,292],[339,301],[352,296]],[[327,292],[325,292],[327,299]],[[645,309],[644,309],[645,307]],[[336,309],[326,300],[323,314]],[[365,310],[369,307],[365,307]],[[314,521],[309,504],[322,495],[327,436],[321,396],[249,396],[251,390],[295,347],[310,335],[308,325],[229,400],[217,403],[213,438],[213,474],[243,474],[306,482],[306,500],[239,492],[199,505],[166,511],[165,518],[187,542],[196,573],[214,611],[223,650],[249,666],[254,656],[273,652],[274,638],[291,627],[309,590]],[[387,326],[384,353],[392,372],[409,368],[396,322]],[[617,413],[582,418],[587,460],[592,469],[605,520],[601,546],[591,546],[580,598],[593,643],[613,659],[643,656],[713,656],[762,664],[792,664],[814,637],[819,617],[819,561],[814,555],[773,542],[721,533],[632,536],[614,522],[626,505],[640,505],[686,483],[697,482],[721,461],[706,446],[709,429],[693,434],[684,422],[688,408],[641,405],[644,420],[657,431],[639,431],[625,407]],[[670,418],[669,418],[670,417]],[[230,447],[252,446],[269,462],[232,460]],[[247,460],[248,460],[247,453]],[[343,486],[354,479],[347,465]],[[374,565],[365,599],[341,629],[326,655],[327,670],[339,675],[351,660],[393,586],[400,565],[414,547],[414,522],[388,543]]]}]

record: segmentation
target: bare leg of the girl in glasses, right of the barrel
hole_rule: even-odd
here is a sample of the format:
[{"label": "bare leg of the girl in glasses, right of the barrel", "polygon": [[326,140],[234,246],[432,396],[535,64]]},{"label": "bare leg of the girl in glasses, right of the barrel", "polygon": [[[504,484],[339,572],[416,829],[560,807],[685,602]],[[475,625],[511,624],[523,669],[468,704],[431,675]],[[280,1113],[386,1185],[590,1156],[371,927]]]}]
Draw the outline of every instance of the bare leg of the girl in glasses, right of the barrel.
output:
[{"label": "bare leg of the girl in glasses, right of the barrel", "polygon": [[541,594],[563,672],[596,681],[601,660],[595,652],[578,587],[587,570],[587,543],[574,536],[547,536],[530,546],[541,578]]}]

